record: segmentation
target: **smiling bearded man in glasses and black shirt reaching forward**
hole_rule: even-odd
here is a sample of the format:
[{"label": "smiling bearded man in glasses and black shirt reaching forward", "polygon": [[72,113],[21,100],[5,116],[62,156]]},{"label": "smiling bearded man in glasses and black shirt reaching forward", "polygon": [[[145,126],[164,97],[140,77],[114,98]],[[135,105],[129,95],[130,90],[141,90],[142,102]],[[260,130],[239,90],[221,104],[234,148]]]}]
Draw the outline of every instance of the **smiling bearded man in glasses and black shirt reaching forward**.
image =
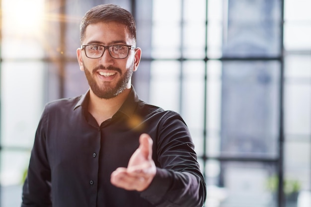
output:
[{"label": "smiling bearded man in glasses and black shirt reaching forward", "polygon": [[90,89],[46,105],[21,206],[202,207],[206,185],[184,121],[141,101],[131,85],[141,60],[133,16],[95,6],[80,41]]}]

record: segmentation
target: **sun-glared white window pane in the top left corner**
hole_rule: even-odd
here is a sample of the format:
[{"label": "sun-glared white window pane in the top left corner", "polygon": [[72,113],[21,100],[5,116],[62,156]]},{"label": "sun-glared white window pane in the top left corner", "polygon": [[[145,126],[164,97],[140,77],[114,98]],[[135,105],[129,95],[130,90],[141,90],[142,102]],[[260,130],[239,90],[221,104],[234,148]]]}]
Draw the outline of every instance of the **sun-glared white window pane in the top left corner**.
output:
[{"label": "sun-glared white window pane in the top left corner", "polygon": [[1,12],[1,58],[43,58],[44,1],[1,0]]}]

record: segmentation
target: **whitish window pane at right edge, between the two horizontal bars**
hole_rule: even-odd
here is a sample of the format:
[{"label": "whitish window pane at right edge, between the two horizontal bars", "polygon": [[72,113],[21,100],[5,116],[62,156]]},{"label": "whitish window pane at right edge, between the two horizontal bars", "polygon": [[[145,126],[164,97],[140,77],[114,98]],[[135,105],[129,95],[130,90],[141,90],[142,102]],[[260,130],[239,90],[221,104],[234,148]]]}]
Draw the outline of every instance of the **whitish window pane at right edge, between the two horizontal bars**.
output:
[{"label": "whitish window pane at right edge, between the two horizontal bars", "polygon": [[311,57],[289,55],[285,59],[284,130],[311,134]]}]

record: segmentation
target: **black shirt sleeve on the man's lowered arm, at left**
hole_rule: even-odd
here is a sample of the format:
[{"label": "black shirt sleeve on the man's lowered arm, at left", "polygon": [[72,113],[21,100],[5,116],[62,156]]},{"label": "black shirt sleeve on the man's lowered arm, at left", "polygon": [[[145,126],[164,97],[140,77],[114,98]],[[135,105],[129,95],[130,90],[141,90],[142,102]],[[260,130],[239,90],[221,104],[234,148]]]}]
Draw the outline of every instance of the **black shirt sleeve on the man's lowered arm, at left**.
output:
[{"label": "black shirt sleeve on the man's lowered arm, at left", "polygon": [[23,185],[21,207],[52,207],[51,171],[46,151],[46,111],[43,112],[31,150],[28,173]]}]

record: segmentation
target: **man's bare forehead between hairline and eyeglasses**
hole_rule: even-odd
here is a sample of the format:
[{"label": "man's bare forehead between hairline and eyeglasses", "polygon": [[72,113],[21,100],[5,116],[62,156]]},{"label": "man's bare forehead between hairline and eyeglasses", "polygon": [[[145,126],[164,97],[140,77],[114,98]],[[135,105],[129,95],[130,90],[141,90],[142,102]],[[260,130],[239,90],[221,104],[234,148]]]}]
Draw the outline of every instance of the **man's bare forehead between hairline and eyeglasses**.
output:
[{"label": "man's bare forehead between hairline and eyeglasses", "polygon": [[112,42],[131,43],[130,32],[126,25],[118,22],[98,22],[89,24],[85,29],[83,43],[101,42],[109,44]]}]

